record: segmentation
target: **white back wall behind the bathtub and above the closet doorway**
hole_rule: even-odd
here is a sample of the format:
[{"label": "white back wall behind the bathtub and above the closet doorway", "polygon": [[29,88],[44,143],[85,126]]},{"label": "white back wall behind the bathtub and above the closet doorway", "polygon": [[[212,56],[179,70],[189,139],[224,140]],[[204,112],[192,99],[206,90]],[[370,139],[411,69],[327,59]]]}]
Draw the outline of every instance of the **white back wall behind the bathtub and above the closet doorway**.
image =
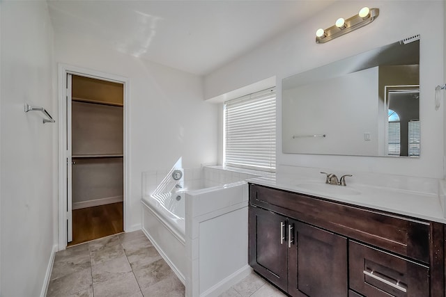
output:
[{"label": "white back wall behind the bathtub and above the closet doorway", "polygon": [[[79,35],[55,35],[55,60],[130,79],[130,223],[141,223],[141,172],[217,162],[217,106],[201,77],[119,53]],[[124,198],[127,199],[127,198]]]}]

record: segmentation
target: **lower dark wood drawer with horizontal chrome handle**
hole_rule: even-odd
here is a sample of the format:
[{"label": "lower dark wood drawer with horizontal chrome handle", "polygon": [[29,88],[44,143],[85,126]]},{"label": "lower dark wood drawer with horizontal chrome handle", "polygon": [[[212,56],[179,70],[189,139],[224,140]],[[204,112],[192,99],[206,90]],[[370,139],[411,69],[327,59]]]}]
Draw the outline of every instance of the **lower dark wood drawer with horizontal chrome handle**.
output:
[{"label": "lower dark wood drawer with horizontal chrome handle", "polygon": [[[364,296],[429,296],[429,267],[349,241],[350,288]],[[354,296],[354,295],[353,295]]]}]

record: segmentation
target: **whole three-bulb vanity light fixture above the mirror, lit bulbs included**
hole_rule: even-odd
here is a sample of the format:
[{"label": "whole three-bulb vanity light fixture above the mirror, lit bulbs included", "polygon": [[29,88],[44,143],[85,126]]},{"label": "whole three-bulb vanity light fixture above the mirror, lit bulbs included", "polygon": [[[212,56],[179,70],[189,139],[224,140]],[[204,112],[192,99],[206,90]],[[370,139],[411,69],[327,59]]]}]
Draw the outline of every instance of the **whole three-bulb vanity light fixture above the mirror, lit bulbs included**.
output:
[{"label": "whole three-bulb vanity light fixture above the mirror, lit bulbs included", "polygon": [[348,19],[340,17],[334,26],[316,31],[316,43],[325,43],[341,35],[360,29],[362,26],[370,24],[379,15],[378,8],[361,8],[357,15]]}]

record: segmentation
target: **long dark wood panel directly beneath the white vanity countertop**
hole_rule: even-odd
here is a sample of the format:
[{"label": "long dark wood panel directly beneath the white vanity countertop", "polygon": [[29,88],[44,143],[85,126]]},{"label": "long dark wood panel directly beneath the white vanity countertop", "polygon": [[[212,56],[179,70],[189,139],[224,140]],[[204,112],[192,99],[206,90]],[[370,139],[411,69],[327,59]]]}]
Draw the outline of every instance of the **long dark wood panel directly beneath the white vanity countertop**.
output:
[{"label": "long dark wood panel directly beneath the white vanity countertop", "polygon": [[249,202],[372,246],[429,264],[431,225],[276,188],[250,184]]}]

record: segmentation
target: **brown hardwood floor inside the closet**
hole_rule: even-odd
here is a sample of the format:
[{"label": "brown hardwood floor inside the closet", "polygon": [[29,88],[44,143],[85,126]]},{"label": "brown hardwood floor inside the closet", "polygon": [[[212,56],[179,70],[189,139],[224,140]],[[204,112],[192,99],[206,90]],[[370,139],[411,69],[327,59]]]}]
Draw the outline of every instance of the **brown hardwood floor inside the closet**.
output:
[{"label": "brown hardwood floor inside the closet", "polygon": [[68,243],[68,246],[123,231],[123,202],[74,209],[72,211],[72,241]]}]

